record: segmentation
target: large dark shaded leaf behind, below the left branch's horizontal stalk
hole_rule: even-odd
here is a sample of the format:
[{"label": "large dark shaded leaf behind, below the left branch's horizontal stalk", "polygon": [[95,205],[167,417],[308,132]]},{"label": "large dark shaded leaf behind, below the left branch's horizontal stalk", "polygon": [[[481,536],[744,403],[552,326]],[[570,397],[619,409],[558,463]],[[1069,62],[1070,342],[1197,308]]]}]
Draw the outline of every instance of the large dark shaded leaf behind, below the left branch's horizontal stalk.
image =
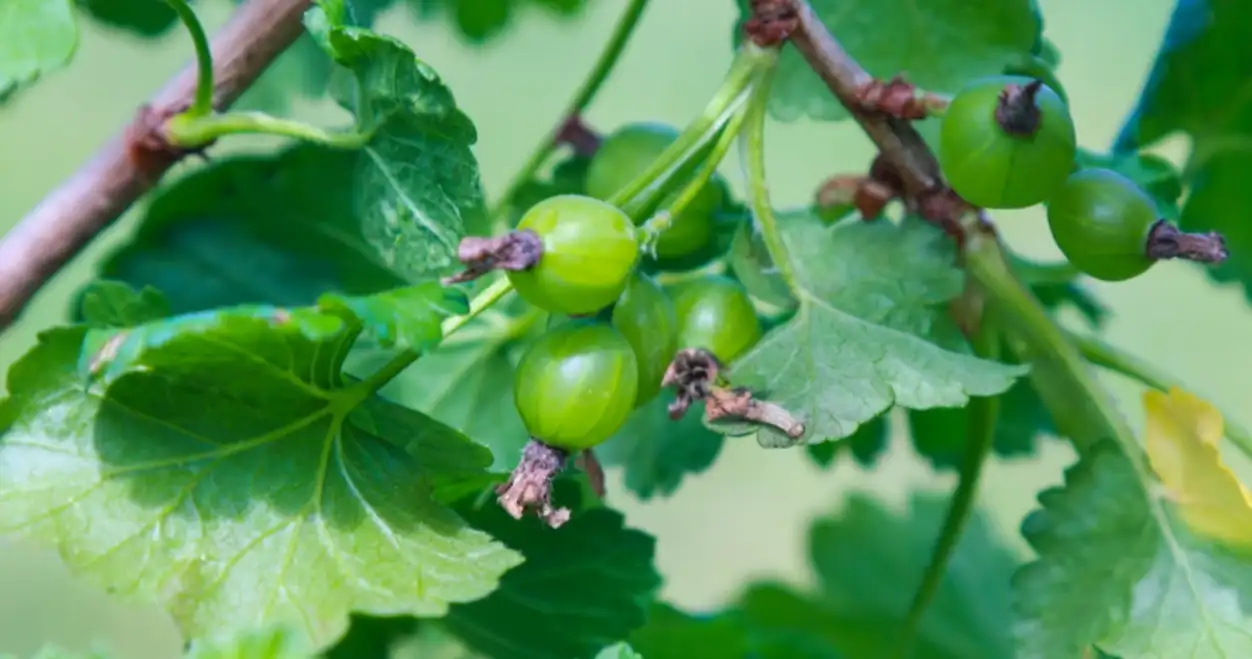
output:
[{"label": "large dark shaded leaf behind, below the left branch's horizontal stalk", "polygon": [[[101,276],[163,291],[175,313],[313,304],[404,286],[353,210],[359,153],[297,145],[215,160],[164,188]],[[310,194],[309,190],[317,190]]]}]

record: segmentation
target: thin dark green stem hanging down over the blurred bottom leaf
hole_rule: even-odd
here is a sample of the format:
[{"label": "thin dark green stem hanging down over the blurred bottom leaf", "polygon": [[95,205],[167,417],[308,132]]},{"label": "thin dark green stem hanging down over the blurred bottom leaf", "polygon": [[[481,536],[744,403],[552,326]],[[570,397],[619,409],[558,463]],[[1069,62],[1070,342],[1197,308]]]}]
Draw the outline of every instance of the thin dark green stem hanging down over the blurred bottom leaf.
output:
[{"label": "thin dark green stem hanging down over the blurred bottom leaf", "polygon": [[[984,307],[978,333],[970,341],[974,353],[984,360],[999,361],[1003,346],[1000,327],[994,309]],[[978,485],[983,476],[983,466],[987,456],[992,452],[995,442],[995,425],[999,421],[1000,397],[975,397],[970,398],[967,406],[965,423],[965,454],[960,465],[960,482],[948,504],[948,514],[944,517],[943,529],[939,531],[939,540],[930,551],[930,564],[921,576],[921,584],[913,595],[909,605],[909,614],[904,623],[903,639],[900,640],[900,656],[908,655],[909,644],[921,626],[921,616],[925,615],[930,603],[934,601],[939,586],[943,584],[944,574],[948,571],[948,563],[952,560],[960,541],[960,534],[965,529],[970,515],[974,512],[974,504],[978,497]]]}]

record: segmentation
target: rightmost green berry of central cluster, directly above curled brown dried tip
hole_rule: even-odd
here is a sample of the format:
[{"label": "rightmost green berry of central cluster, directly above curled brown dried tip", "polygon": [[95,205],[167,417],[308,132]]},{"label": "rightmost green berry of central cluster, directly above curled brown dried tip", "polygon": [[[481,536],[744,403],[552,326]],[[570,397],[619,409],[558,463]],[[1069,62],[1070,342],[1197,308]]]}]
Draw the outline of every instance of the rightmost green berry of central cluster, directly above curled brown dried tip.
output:
[{"label": "rightmost green berry of central cluster, directly above curled brown dried tip", "polygon": [[731,362],[761,340],[764,331],[747,292],[726,277],[706,277],[674,297],[679,348],[704,348]]}]

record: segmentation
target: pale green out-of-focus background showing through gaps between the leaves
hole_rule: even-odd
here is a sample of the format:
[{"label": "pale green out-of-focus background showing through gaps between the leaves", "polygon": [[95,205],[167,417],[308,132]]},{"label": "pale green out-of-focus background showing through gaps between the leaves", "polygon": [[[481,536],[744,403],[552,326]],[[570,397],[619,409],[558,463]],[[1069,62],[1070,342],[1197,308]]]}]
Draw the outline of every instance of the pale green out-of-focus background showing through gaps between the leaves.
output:
[{"label": "pale green out-of-focus background showing through gaps between the leaves", "polygon": [[[1064,60],[1059,75],[1069,91],[1079,140],[1107,147],[1132,105],[1164,30],[1171,0],[1048,0],[1047,34]],[[228,3],[199,3],[208,26],[224,20]],[[379,24],[406,40],[444,76],[480,129],[477,154],[490,193],[501,192],[513,169],[551,125],[610,33],[623,3],[598,1],[575,21],[530,13],[486,48],[459,41],[443,23],[414,25],[404,10]],[[610,84],[588,113],[592,125],[612,129],[639,119],[681,124],[716,89],[730,61],[735,21],[730,0],[657,0]],[[833,29],[838,33],[839,26]],[[183,33],[156,43],[89,28],[73,66],[0,109],[0,229],[8,231],[54,185],[126,122],[135,106],[190,55]],[[665,90],[665,91],[662,91]],[[295,113],[339,120],[327,104]],[[1176,162],[1184,143],[1163,153]],[[868,140],[851,123],[772,124],[767,169],[780,204],[805,203],[818,183],[840,169],[864,167]],[[195,167],[194,163],[183,167]],[[736,163],[725,173],[737,184]],[[1009,242],[1028,256],[1057,258],[1039,210],[997,215]],[[133,219],[133,218],[129,218]],[[94,262],[131,229],[123,221],[48,286],[21,322],[0,340],[0,368],[65,317],[70,294],[91,276]],[[1164,263],[1136,281],[1093,284],[1116,317],[1108,338],[1163,368],[1218,406],[1244,415],[1252,403],[1246,373],[1252,351],[1252,312],[1242,292],[1216,288],[1201,271]],[[1108,378],[1123,410],[1142,425],[1138,388]],[[1247,418],[1252,421],[1252,418]],[[899,427],[899,425],[896,426]],[[998,461],[980,497],[1008,542],[1023,551],[1017,525],[1037,490],[1054,484],[1072,454],[1049,442],[1038,460]],[[610,497],[629,521],[659,537],[665,595],[680,605],[714,606],[746,579],[808,578],[808,521],[839,505],[840,492],[869,489],[893,504],[913,487],[948,490],[953,475],[934,475],[906,442],[896,441],[874,471],[840,464],[819,471],[803,451],[764,451],[734,442],[709,472],[689,479],[677,495],[647,504],[634,500],[610,474]],[[734,549],[731,549],[734,547]],[[180,641],[164,614],[116,601],[76,583],[45,549],[0,540],[0,653],[33,653],[53,640],[73,649],[103,644],[116,656],[173,658]]]}]

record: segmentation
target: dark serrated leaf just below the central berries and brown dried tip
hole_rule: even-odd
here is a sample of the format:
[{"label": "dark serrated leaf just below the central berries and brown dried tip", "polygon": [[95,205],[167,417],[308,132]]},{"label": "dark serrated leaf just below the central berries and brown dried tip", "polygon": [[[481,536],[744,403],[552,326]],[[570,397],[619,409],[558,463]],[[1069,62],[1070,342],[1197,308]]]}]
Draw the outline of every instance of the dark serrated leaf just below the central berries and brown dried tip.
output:
[{"label": "dark serrated leaf just below the central berries and brown dried tip", "polygon": [[626,469],[626,487],[644,501],[672,495],[684,477],[705,471],[721,452],[724,437],[700,421],[704,405],[675,421],[667,411],[672,400],[672,392],[661,392],[596,446],[601,464]]}]

